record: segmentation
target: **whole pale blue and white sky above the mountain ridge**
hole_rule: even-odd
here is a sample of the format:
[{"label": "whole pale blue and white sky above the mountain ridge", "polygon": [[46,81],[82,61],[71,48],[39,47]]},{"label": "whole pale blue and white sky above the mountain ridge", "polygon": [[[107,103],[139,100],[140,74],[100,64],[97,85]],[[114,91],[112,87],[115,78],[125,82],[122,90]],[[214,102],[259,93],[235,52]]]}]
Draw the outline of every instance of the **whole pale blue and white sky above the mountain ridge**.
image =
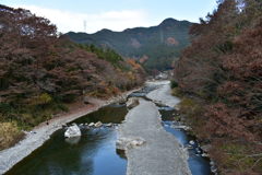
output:
[{"label": "whole pale blue and white sky above the mountain ridge", "polygon": [[216,8],[216,0],[0,0],[47,18],[61,33],[123,31],[158,25],[167,18],[199,22]]}]

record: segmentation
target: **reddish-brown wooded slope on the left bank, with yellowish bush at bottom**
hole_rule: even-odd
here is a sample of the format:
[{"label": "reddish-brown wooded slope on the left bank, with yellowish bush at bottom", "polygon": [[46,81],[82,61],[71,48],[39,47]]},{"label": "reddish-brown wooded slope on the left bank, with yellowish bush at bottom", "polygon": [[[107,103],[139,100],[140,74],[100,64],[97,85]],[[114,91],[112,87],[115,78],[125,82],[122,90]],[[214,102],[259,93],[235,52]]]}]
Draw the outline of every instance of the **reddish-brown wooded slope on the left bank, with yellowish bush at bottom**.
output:
[{"label": "reddish-brown wooded slope on the left bank, with yellowish bush at bottom", "polygon": [[49,20],[0,5],[0,150],[67,104],[116,95],[144,75],[114,50],[74,44]]}]

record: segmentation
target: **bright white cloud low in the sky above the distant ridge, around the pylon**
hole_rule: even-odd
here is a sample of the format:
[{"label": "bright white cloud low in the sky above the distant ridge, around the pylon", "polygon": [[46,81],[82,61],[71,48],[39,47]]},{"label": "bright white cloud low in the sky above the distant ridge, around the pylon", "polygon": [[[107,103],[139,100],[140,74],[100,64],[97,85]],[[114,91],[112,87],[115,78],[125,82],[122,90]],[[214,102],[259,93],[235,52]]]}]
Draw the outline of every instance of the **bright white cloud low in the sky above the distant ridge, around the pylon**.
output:
[{"label": "bright white cloud low in the sky above the distant ridge, around the pylon", "polygon": [[32,13],[38,16],[49,19],[52,24],[57,25],[58,31],[62,33],[69,31],[84,32],[84,21],[87,33],[95,33],[102,28],[122,31],[129,27],[148,26],[146,12],[142,10],[106,11],[87,14],[37,5],[19,7],[31,10]]}]

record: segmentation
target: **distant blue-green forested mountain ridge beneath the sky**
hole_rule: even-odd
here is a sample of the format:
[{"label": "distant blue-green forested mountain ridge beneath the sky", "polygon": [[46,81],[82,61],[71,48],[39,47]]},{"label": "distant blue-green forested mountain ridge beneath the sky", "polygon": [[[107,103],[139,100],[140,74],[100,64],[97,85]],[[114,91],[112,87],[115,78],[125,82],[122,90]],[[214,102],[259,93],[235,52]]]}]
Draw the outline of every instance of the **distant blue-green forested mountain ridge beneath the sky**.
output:
[{"label": "distant blue-green forested mountain ridge beneath the sky", "polygon": [[102,30],[95,34],[69,32],[71,40],[111,48],[123,57],[140,60],[147,69],[168,69],[181,49],[187,47],[192,23],[166,19],[152,27],[128,28],[122,32]]}]

